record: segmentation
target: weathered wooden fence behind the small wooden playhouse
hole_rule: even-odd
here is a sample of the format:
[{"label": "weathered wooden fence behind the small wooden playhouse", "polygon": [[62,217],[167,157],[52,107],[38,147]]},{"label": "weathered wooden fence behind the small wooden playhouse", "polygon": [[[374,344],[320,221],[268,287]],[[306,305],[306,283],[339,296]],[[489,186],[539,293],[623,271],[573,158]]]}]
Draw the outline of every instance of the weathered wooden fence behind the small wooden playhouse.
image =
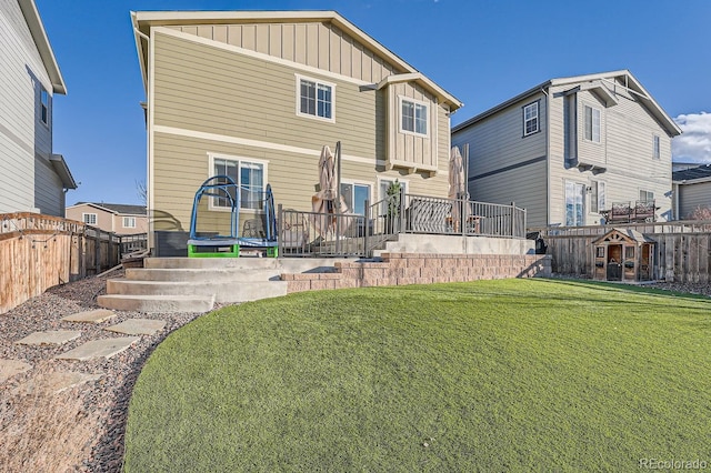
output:
[{"label": "weathered wooden fence behind the small wooden playhouse", "polygon": [[711,221],[627,223],[595,227],[545,227],[538,232],[552,258],[552,271],[592,278],[592,242],[612,229],[632,229],[654,240],[653,279],[674,282],[710,282]]}]

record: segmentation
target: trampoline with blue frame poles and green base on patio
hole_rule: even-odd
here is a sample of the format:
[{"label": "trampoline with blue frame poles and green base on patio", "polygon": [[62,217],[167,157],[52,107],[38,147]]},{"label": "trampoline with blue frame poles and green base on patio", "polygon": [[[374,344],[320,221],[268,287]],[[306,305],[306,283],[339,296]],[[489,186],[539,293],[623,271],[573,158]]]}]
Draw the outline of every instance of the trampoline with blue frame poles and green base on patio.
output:
[{"label": "trampoline with blue frame poles and green base on patio", "polygon": [[[223,223],[218,224],[223,212],[206,214],[206,205],[201,205],[202,198],[206,197],[212,199],[209,210],[219,209],[230,212],[227,232]],[[253,214],[253,218],[243,220],[241,233],[238,230],[240,209],[249,209],[250,217]],[[237,184],[228,175],[213,175],[196,192],[190,219],[188,256],[238,258],[240,249],[264,251],[267,256],[271,258],[279,255],[277,215],[271,185],[267,184],[266,190],[253,190]]]}]

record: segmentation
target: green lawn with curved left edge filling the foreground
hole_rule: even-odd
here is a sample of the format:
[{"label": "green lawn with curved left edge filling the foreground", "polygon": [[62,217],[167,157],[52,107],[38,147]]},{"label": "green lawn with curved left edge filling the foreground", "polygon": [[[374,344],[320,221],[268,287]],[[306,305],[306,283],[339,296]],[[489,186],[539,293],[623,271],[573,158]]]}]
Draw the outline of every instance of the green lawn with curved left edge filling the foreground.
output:
[{"label": "green lawn with curved left edge filling the foreground", "polygon": [[292,294],[158,346],[128,472],[711,461],[711,300],[551,280]]}]

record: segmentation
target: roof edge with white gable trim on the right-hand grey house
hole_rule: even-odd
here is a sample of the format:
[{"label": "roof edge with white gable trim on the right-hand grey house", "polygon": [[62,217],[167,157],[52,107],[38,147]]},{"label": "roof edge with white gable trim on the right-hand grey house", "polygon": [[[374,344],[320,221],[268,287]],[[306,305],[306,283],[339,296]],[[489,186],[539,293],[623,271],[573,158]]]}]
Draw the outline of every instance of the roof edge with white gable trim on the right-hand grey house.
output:
[{"label": "roof edge with white gable trim on the right-hand grey house", "polygon": [[[617,79],[622,80],[622,82],[625,85],[621,85],[620,83],[615,82]],[[481,121],[483,119],[485,119],[487,117],[490,117],[494,113],[497,113],[500,110],[505,109],[507,107],[510,107],[521,100],[524,100],[528,97],[534,95],[539,92],[542,92],[543,90],[548,90],[551,87],[555,87],[555,85],[567,85],[567,84],[573,84],[573,83],[579,83],[579,82],[588,82],[589,87],[588,88],[599,88],[600,91],[605,95],[603,97],[603,99],[605,99],[605,101],[610,101],[610,100],[614,100],[613,94],[610,93],[609,90],[607,90],[605,87],[599,87],[599,85],[614,85],[614,87],[623,87],[625,88],[628,91],[630,91],[631,93],[633,93],[638,99],[640,99],[640,101],[644,104],[644,107],[650,111],[650,113],[660,122],[660,124],[662,125],[662,128],[664,128],[664,130],[667,130],[667,133],[669,133],[670,137],[677,137],[679,134],[681,134],[681,129],[679,128],[679,125],[674,122],[674,120],[672,120],[671,117],[669,117],[667,114],[667,112],[659,105],[659,103],[657,103],[654,101],[654,99],[652,98],[652,95],[647,91],[647,89],[644,89],[642,87],[642,84],[634,78],[634,76],[632,76],[632,72],[630,72],[627,69],[622,69],[619,71],[610,71],[610,72],[600,72],[600,73],[594,73],[594,74],[585,74],[585,76],[573,76],[573,77],[569,77],[569,78],[559,78],[559,79],[551,79],[548,80],[545,82],[542,82],[529,90],[527,90],[523,93],[520,93],[518,95],[515,95],[512,99],[507,100],[505,102],[502,102],[455,127],[452,128],[452,132],[462,130],[473,123],[477,123],[478,121]]]}]

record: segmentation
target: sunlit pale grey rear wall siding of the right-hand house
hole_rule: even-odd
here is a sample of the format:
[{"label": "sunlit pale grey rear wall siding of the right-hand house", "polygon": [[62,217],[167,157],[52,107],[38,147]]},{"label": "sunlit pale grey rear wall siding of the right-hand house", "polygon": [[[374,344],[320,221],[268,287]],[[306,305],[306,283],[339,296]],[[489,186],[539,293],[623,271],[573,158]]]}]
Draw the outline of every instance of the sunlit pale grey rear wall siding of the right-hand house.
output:
[{"label": "sunlit pale grey rear wall siding of the right-hand house", "polygon": [[[565,224],[565,182],[591,187],[594,181],[605,185],[605,205],[612,202],[634,202],[640,191],[654,193],[657,217],[660,221],[671,219],[671,138],[645,107],[633,94],[618,89],[618,104],[604,107],[590,91],[575,93],[577,103],[577,158],[579,162],[605,168],[605,172],[593,174],[581,172],[565,162],[565,97],[560,92],[577,84],[553,87],[550,90],[550,221],[549,224]],[[600,143],[584,138],[584,105],[594,105],[601,111]],[[660,137],[660,159],[652,158],[653,135]],[[600,223],[601,214],[591,212],[591,193],[585,194],[585,224]]]}]

